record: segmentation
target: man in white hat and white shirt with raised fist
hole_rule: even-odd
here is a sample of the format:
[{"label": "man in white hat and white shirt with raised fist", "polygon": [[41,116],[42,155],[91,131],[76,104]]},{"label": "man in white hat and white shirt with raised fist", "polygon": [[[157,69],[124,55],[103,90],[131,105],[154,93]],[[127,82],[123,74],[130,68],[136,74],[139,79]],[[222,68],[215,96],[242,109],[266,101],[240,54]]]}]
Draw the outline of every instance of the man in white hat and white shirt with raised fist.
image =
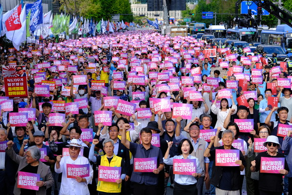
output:
[{"label": "man in white hat and white shirt with raised fist", "polygon": [[[69,145],[69,156],[62,157],[62,155],[59,155],[56,158],[55,172],[58,174],[63,173],[59,195],[68,195],[71,193],[74,195],[90,195],[87,185],[91,183],[93,170],[89,164],[89,160],[79,155],[81,149],[83,147],[78,143],[77,139],[72,139]],[[89,176],[82,177],[82,175],[79,175],[83,171],[76,171],[75,176],[72,171],[73,169],[70,170],[70,167],[74,167],[74,165],[87,164],[89,166],[87,166],[85,172],[89,173]],[[74,178],[68,178],[69,175],[74,176]]]}]

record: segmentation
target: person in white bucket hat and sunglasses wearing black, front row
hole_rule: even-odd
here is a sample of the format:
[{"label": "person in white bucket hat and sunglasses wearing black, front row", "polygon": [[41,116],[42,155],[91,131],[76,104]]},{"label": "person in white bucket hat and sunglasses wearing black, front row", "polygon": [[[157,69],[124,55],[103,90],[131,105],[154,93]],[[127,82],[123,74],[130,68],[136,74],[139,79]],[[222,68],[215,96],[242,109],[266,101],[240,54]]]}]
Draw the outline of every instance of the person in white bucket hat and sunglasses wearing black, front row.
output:
[{"label": "person in white bucket hat and sunglasses wearing black, front row", "polygon": [[[285,156],[277,152],[277,149],[281,148],[281,144],[279,143],[278,137],[269,136],[263,145],[267,147],[268,150],[259,153],[255,160],[252,161],[251,166],[252,172],[259,171],[260,168],[262,169],[259,172],[258,180],[259,195],[282,195],[283,176],[288,174],[289,167]],[[276,160],[276,164],[274,160]],[[284,164],[279,164],[278,161],[280,160],[284,160]],[[267,169],[269,168],[269,165],[271,165],[271,171],[274,171],[274,173],[263,173],[263,163],[266,164]]]}]

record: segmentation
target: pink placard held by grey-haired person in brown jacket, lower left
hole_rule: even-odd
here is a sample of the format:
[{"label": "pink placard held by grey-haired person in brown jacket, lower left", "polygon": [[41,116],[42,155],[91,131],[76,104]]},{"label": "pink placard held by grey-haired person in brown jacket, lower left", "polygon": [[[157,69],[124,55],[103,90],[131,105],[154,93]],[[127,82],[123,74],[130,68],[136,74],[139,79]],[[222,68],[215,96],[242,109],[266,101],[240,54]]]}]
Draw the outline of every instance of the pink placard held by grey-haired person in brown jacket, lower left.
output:
[{"label": "pink placard held by grey-haired person in brown jacket, lower left", "polygon": [[37,181],[39,181],[39,179],[39,174],[19,171],[17,178],[17,187],[29,190],[38,190]]}]

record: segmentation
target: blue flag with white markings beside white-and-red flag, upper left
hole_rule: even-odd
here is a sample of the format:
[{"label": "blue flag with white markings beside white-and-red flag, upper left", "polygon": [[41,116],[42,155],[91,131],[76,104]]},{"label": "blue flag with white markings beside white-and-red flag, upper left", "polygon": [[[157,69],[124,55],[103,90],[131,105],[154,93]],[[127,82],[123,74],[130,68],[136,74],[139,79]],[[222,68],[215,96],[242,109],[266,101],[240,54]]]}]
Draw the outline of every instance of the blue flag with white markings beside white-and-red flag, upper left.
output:
[{"label": "blue flag with white markings beside white-and-red flag, upper left", "polygon": [[34,32],[39,24],[43,22],[43,10],[42,10],[42,0],[37,0],[34,3],[26,4],[26,15],[28,15],[31,10],[31,23],[30,31]]}]

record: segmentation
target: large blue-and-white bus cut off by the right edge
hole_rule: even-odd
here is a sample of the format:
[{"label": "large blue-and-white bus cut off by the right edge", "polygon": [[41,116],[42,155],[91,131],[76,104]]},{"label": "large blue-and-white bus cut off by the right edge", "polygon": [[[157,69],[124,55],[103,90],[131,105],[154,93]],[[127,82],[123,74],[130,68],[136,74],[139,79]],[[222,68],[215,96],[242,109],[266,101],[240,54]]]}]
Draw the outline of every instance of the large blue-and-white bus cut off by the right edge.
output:
[{"label": "large blue-and-white bus cut off by the right edge", "polygon": [[289,52],[290,57],[292,56],[292,28],[287,24],[281,24],[276,30],[263,30],[260,34],[260,43],[279,45]]}]

